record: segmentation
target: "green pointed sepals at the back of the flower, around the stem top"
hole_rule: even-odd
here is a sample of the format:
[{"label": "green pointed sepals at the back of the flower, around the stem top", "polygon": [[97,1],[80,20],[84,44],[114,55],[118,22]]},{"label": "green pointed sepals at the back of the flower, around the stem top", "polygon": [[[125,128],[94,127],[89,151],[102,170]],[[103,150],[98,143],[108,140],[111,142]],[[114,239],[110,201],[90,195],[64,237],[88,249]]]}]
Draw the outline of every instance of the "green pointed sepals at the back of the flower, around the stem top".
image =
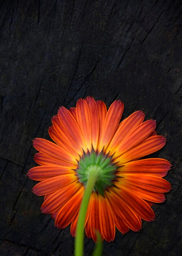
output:
[{"label": "green pointed sepals at the back of the flower, around the stem top", "polygon": [[108,187],[115,186],[113,181],[118,177],[116,171],[119,166],[116,166],[112,161],[112,156],[104,155],[103,150],[100,153],[95,150],[88,151],[83,154],[78,162],[78,168],[75,170],[79,181],[86,187],[89,175],[97,173],[93,191],[104,196],[104,190]]}]

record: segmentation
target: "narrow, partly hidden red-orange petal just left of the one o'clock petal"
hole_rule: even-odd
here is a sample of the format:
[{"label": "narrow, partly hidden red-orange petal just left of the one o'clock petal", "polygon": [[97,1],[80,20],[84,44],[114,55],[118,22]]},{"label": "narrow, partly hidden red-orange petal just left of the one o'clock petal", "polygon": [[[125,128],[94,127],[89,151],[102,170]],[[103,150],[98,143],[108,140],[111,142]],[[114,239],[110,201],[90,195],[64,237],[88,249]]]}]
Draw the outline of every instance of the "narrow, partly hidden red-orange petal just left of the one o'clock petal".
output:
[{"label": "narrow, partly hidden red-orange petal just left of the one o'clock petal", "polygon": [[[104,128],[104,121],[107,114],[107,107],[106,104],[103,101],[96,101],[97,107],[98,107],[98,113],[99,113],[99,139],[98,139],[98,148],[101,148],[100,140],[102,135],[102,130]],[[102,148],[101,148],[102,150]]]}]

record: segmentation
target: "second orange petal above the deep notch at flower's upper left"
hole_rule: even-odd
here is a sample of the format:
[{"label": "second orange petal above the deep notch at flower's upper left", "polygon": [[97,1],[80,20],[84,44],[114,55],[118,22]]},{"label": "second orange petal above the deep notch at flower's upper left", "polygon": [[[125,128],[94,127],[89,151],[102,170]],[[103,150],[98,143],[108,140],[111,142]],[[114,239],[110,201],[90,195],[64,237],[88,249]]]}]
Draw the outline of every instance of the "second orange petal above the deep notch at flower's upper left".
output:
[{"label": "second orange petal above the deep notch at flower's upper left", "polygon": [[78,153],[82,155],[82,148],[77,144],[77,142],[75,141],[75,139],[73,139],[68,130],[66,130],[64,128],[64,126],[61,124],[60,119],[58,117],[58,115],[55,115],[52,118],[52,124],[56,130],[56,132],[58,133],[58,135],[63,139],[63,141],[65,141],[65,144],[69,144],[72,148],[74,148],[74,150]]}]

